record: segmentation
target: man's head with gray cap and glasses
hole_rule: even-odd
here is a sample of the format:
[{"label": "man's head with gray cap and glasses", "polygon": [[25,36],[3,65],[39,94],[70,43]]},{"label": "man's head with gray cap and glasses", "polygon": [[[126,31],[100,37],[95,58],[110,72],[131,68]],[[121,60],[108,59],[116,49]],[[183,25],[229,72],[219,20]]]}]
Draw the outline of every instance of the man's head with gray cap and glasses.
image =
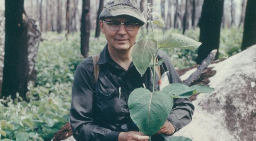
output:
[{"label": "man's head with gray cap and glasses", "polygon": [[128,50],[143,24],[134,0],[111,0],[100,13],[101,31],[111,49]]}]

